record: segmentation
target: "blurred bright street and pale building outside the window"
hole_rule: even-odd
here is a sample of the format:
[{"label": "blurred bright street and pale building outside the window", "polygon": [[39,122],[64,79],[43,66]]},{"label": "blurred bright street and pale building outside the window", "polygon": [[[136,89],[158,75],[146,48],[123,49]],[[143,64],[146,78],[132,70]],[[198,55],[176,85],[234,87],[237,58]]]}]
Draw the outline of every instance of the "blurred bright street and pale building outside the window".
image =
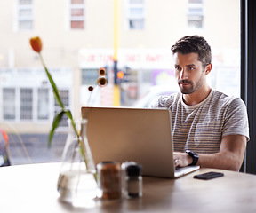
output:
[{"label": "blurred bright street and pale building outside the window", "polygon": [[239,0],[1,0],[0,14],[0,128],[8,135],[0,149],[12,165],[60,162],[67,137],[64,118],[47,147],[59,107],[29,46],[33,36],[41,37],[44,61],[77,119],[100,67],[108,85],[93,106],[148,107],[178,91],[170,48],[187,35],[212,47],[212,88],[240,96]]}]

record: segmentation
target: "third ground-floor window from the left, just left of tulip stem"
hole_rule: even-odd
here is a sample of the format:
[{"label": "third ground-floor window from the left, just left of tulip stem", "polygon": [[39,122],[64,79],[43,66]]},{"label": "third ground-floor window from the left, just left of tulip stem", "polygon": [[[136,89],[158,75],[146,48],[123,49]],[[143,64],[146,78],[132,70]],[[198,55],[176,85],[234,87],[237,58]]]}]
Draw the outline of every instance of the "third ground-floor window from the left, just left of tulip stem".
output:
[{"label": "third ground-floor window from the left, just left of tulip stem", "polygon": [[39,88],[37,92],[37,119],[48,120],[50,114],[49,89]]}]

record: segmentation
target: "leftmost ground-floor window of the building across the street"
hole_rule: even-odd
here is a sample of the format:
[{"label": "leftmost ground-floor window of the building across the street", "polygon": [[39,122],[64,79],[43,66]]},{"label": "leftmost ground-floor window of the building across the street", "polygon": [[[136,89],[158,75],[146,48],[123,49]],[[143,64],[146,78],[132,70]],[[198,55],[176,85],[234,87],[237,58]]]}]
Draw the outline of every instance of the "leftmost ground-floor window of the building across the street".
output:
[{"label": "leftmost ground-floor window of the building across the street", "polygon": [[4,120],[15,120],[16,116],[16,93],[14,88],[3,89],[3,114]]}]

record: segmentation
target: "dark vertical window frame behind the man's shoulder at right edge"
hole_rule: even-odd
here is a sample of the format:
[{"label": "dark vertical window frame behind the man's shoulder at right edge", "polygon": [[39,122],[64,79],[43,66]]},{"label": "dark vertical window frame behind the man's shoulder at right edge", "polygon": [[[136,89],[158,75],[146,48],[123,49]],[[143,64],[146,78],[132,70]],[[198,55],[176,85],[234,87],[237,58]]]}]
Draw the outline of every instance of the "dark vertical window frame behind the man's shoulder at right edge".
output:
[{"label": "dark vertical window frame behind the man's shoulder at right edge", "polygon": [[247,142],[244,154],[242,171],[256,174],[256,75],[255,75],[255,52],[256,43],[256,2],[254,0],[240,0],[241,4],[241,98],[247,107],[249,120],[250,141]]}]

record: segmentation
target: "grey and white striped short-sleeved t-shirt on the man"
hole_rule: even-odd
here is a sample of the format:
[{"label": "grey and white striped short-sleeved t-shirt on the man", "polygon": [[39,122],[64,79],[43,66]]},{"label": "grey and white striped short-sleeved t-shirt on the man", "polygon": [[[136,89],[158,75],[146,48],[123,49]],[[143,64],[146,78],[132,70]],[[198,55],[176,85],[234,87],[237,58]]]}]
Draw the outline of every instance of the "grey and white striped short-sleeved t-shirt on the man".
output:
[{"label": "grey and white striped short-sleeved t-shirt on the man", "polygon": [[171,109],[176,152],[189,149],[201,154],[218,153],[221,138],[228,135],[244,135],[249,140],[248,117],[243,100],[220,91],[212,90],[196,106],[186,105],[178,92],[159,97],[150,107]]}]

